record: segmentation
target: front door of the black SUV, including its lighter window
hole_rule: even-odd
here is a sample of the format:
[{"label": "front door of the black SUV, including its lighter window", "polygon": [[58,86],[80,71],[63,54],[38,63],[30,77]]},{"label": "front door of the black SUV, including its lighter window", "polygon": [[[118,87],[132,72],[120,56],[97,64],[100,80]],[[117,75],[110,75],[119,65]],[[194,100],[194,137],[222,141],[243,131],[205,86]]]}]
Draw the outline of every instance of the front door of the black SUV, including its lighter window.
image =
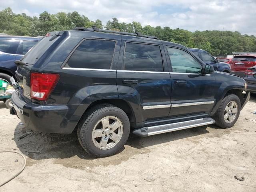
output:
[{"label": "front door of the black SUV, including its lighter window", "polygon": [[203,64],[188,51],[167,47],[172,70],[171,110],[169,116],[208,116],[218,90],[215,73],[202,74]]}]

